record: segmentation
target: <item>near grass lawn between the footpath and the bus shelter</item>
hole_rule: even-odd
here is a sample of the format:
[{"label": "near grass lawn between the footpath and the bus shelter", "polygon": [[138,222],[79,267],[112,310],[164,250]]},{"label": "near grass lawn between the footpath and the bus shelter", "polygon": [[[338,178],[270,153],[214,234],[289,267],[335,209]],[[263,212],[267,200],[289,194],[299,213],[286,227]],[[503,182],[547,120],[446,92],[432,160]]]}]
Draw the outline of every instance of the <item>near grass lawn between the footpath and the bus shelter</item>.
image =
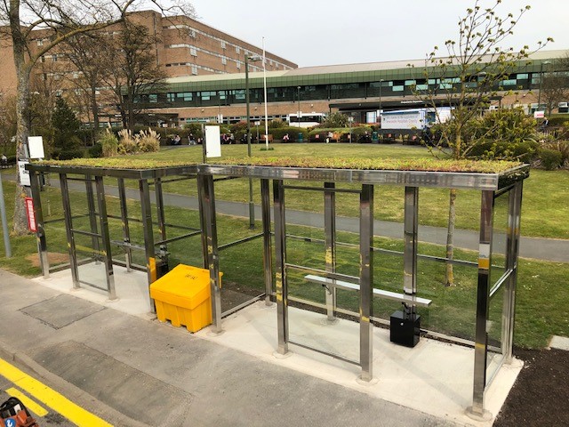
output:
[{"label": "near grass lawn between the footpath and the bus shelter", "polygon": [[[241,147],[243,148],[243,147]],[[13,210],[14,184],[4,181],[4,193],[9,217]],[[85,213],[84,194],[72,193],[74,214]],[[42,193],[44,213],[46,220],[60,218],[61,203],[59,189],[47,188]],[[47,214],[47,200],[50,201]],[[135,201],[129,202],[130,216],[140,217],[140,209]],[[119,212],[118,200],[108,197],[109,214]],[[195,211],[168,207],[166,209],[166,222],[181,224],[189,227],[198,227],[199,217]],[[141,243],[141,230],[135,222],[132,226],[132,240]],[[219,244],[223,245],[237,238],[244,238],[253,232],[248,229],[246,219],[236,219],[218,215]],[[50,222],[46,225],[48,237],[48,250],[50,252],[66,254],[67,240],[63,222]],[[79,218],[74,227],[88,230],[87,218]],[[260,228],[260,227],[258,227]],[[109,221],[111,239],[122,240],[121,223],[117,220]],[[157,231],[157,230],[156,230]],[[306,227],[287,227],[292,234],[322,238],[322,230]],[[169,229],[169,237],[185,233],[184,230]],[[350,233],[338,233],[338,240],[346,243],[356,243],[357,236]],[[6,270],[33,277],[40,274],[30,260],[36,256],[36,238],[26,236],[12,238],[12,258],[4,256],[4,246],[0,247],[0,267]],[[88,255],[87,248],[92,247],[91,238],[77,237],[78,258]],[[401,250],[400,240],[376,238],[374,246]],[[440,246],[427,244],[420,245],[421,254],[441,254]],[[201,265],[201,245],[198,237],[188,238],[172,243],[168,246],[171,257],[171,266],[177,262],[191,265]],[[113,247],[113,254],[120,258],[120,251]],[[477,254],[467,251],[457,251],[457,258],[476,261]],[[359,254],[357,248],[338,246],[338,271],[345,274],[357,275]],[[260,239],[243,245],[232,246],[220,253],[220,270],[223,271],[224,283],[244,284],[257,288],[262,292],[264,288],[262,274],[262,249]],[[143,263],[141,255],[137,255],[135,262]],[[287,262],[298,263],[316,268],[324,268],[325,250],[321,244],[310,243],[306,240],[289,239],[287,241]],[[493,259],[494,264],[503,262],[499,256]],[[102,268],[102,267],[101,267]],[[457,286],[443,286],[444,264],[430,261],[419,263],[419,295],[433,301],[429,309],[421,309],[422,326],[444,334],[452,334],[466,339],[473,339],[474,319],[476,308],[477,269],[472,267],[456,267],[455,275]],[[497,269],[497,275],[500,269]],[[377,253],[374,260],[374,286],[386,290],[401,292],[403,284],[402,257],[394,254]],[[552,334],[569,335],[569,314],[565,308],[569,306],[569,289],[566,278],[569,277],[569,264],[553,262],[535,262],[520,260],[518,287],[517,287],[517,316],[515,343],[519,346],[542,348],[547,346]],[[493,280],[497,277],[493,277]],[[120,284],[117,284],[120,286]],[[315,302],[323,302],[324,292],[321,286],[308,284],[301,273],[291,271],[289,277],[290,294]],[[341,308],[357,311],[357,295],[339,292],[338,302]],[[491,319],[493,327],[490,329],[491,338],[500,340],[501,323],[501,292],[493,297],[491,302]],[[561,308],[561,309],[560,309]],[[398,310],[395,302],[385,302],[376,299],[374,312],[377,317],[389,318],[389,314]],[[292,331],[293,333],[293,331]]]}]

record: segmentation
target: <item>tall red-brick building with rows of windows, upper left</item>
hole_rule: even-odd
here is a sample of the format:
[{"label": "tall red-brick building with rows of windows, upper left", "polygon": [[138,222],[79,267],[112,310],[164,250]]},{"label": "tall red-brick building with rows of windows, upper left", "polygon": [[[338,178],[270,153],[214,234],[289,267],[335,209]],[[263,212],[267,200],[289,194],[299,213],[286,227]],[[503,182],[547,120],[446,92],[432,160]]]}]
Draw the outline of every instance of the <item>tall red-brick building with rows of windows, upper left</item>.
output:
[{"label": "tall red-brick building with rows of windows, upper left", "polygon": [[[239,73],[244,69],[245,56],[262,55],[259,46],[249,44],[219,29],[187,16],[164,17],[158,12],[132,12],[128,16],[132,22],[147,28],[148,36],[154,41],[156,61],[166,76],[206,76]],[[109,27],[101,30],[107,34],[119,32],[120,28]],[[0,28],[0,93],[13,95],[16,90],[16,72],[13,65],[12,43],[9,28]],[[38,52],[49,41],[50,33],[37,30],[33,33],[29,46],[31,52]],[[266,52],[265,67],[268,71],[297,68],[290,60],[274,53]],[[261,70],[260,61],[252,62],[250,69]],[[34,69],[37,79],[44,82],[55,81],[50,86],[60,86],[62,90],[75,90],[72,81],[80,77],[77,69],[66,57],[65,48],[59,46],[40,58]]]}]

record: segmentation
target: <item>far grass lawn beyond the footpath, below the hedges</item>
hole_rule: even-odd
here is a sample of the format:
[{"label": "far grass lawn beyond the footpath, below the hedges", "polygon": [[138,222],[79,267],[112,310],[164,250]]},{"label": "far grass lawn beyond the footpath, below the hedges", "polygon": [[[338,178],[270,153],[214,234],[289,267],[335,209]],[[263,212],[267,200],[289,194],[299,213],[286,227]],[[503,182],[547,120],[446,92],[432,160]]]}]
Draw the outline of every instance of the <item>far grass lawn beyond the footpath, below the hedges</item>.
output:
[{"label": "far grass lawn beyond the footpath, below the hedges", "polygon": [[[255,157],[430,157],[423,147],[378,144],[274,144],[273,151],[260,151],[261,145],[252,145]],[[246,145],[224,145],[223,157],[246,157]],[[165,147],[158,153],[148,153],[136,158],[152,157],[156,160],[203,161],[201,146],[181,148]],[[215,159],[208,159],[215,163]],[[190,181],[191,182],[191,181]],[[302,185],[295,181],[295,184]],[[132,186],[137,184],[132,183]],[[569,171],[532,170],[530,178],[525,180],[522,212],[522,234],[527,237],[569,239]],[[248,201],[248,181],[231,180],[216,185],[216,198],[246,203]],[[357,189],[357,185],[341,184],[341,188]],[[164,185],[164,191],[196,196],[196,185],[188,181],[172,182]],[[260,204],[260,189],[254,186],[253,198]],[[376,187],[375,217],[385,221],[402,222],[404,214],[404,190],[397,186]],[[306,197],[305,192],[288,190],[287,205],[303,211],[321,211],[322,203],[315,203],[313,197]],[[420,213],[421,224],[446,227],[448,218],[448,191],[445,189],[421,189]],[[357,216],[357,197],[347,194],[337,195],[336,212],[340,216]],[[460,229],[477,230],[479,226],[480,193],[460,190],[457,197],[456,224]]]}]

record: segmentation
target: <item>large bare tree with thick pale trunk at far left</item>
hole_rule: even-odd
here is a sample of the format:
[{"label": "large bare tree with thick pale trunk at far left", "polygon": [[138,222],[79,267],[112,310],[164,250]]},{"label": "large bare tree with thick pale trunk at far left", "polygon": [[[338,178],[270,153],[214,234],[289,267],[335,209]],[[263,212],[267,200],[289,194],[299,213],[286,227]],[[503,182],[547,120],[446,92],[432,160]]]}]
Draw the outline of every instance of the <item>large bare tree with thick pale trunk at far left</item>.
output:
[{"label": "large bare tree with thick pale trunk at far left", "polygon": [[[124,20],[135,0],[4,0],[0,3],[0,23],[7,24],[7,36],[12,42],[14,66],[16,68],[16,156],[26,159],[26,143],[30,132],[30,77],[33,68],[47,52],[60,46],[69,38],[88,33]],[[184,13],[191,6],[175,4],[164,9],[158,0],[148,0],[162,12]],[[193,13],[193,9],[191,9]],[[44,38],[40,43],[36,37],[41,30]],[[13,233],[28,232],[28,221],[24,198],[30,189],[20,184],[18,177],[15,191]]]}]

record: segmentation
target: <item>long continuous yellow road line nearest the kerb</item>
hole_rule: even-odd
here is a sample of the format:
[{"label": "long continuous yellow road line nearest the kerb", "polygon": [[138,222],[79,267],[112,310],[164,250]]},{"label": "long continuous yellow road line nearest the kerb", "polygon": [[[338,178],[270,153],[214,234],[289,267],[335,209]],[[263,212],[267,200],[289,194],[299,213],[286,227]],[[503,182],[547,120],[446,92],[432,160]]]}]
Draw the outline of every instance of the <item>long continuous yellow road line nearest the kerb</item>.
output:
[{"label": "long continuous yellow road line nearest the kerb", "polygon": [[17,367],[13,367],[4,359],[0,359],[0,375],[16,384],[20,389],[27,391],[54,411],[59,412],[60,415],[65,416],[71,423],[75,423],[79,427],[112,427],[112,424],[107,423],[96,415],[92,415],[84,410],[83,407],[77,406],[57,391],[50,389],[35,378],[20,371]]}]

